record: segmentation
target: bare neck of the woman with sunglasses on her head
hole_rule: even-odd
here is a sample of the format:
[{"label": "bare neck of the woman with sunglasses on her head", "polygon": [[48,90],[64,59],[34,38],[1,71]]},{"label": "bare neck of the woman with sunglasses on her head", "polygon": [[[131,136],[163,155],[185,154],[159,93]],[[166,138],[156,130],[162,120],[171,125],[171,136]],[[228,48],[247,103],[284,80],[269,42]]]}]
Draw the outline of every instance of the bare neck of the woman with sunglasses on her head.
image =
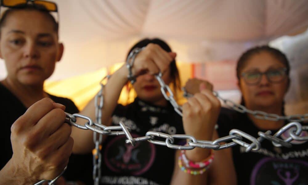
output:
[{"label": "bare neck of the woman with sunglasses on her head", "polygon": [[41,100],[42,98],[49,97],[43,90],[43,84],[38,85],[25,85],[20,82],[10,80],[6,78],[1,81],[7,89],[10,90],[26,108],[29,108],[35,102]]}]

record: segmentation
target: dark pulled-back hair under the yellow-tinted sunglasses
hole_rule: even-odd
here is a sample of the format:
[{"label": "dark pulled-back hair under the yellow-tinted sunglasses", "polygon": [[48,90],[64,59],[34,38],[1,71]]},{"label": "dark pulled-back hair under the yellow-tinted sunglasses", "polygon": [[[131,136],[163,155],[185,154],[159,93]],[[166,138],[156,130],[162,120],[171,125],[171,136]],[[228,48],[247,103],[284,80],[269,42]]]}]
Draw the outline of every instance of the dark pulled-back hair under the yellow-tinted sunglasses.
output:
[{"label": "dark pulled-back hair under the yellow-tinted sunglasses", "polygon": [[[36,6],[38,6],[38,5],[36,5]],[[59,23],[56,22],[55,18],[49,13],[49,11],[47,11],[44,6],[42,6],[38,9],[37,7],[34,7],[31,4],[27,4],[26,6],[24,6],[22,8],[16,7],[16,8],[10,8],[10,9],[4,11],[2,16],[1,16],[1,19],[0,19],[0,30],[5,25],[7,17],[10,14],[12,14],[15,11],[18,11],[18,10],[39,11],[39,12],[43,13],[44,15],[46,15],[46,17],[48,19],[51,20],[51,22],[54,25],[54,31],[57,33],[57,35],[59,35]]]}]

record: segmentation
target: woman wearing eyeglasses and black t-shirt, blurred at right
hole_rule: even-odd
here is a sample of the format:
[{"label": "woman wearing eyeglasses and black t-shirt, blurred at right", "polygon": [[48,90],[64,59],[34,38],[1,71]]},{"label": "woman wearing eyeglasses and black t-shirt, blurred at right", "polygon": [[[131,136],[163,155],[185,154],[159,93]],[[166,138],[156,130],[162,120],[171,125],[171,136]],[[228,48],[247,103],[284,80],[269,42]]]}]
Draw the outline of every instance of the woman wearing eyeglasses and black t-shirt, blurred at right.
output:
[{"label": "woman wearing eyeglasses and black t-shirt, blurred at right", "polygon": [[[261,46],[246,51],[237,63],[241,105],[250,110],[284,115],[284,97],[290,84],[290,66],[279,50]],[[275,134],[290,121],[257,119],[249,113],[221,109],[218,134],[229,135],[231,129],[242,130],[258,138],[258,131]],[[303,133],[306,134],[306,133]],[[288,136],[282,135],[282,138]],[[308,144],[291,142],[292,147],[276,147],[270,141],[261,142],[259,151],[246,153],[245,147],[232,149],[238,184],[306,184],[308,181]]]}]

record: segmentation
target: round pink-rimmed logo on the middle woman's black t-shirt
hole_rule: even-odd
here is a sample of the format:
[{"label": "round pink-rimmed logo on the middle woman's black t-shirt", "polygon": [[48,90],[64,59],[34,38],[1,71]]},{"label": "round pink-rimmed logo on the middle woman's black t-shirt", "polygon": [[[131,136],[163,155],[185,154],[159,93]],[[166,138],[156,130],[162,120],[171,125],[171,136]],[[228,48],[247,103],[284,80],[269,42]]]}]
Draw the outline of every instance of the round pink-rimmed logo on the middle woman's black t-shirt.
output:
[{"label": "round pink-rimmed logo on the middle woman's black t-shirt", "polygon": [[[133,138],[140,137],[132,134]],[[141,175],[152,166],[155,159],[155,146],[150,142],[137,142],[135,146],[125,143],[126,136],[113,138],[104,151],[107,167],[117,173]]]}]

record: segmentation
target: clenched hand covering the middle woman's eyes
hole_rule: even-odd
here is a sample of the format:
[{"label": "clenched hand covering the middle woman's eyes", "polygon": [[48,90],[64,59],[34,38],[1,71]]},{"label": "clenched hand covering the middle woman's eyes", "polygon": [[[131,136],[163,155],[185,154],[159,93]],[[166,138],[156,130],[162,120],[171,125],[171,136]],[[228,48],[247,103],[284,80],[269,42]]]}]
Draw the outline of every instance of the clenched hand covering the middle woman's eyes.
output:
[{"label": "clenched hand covering the middle woman's eyes", "polygon": [[132,73],[136,77],[145,73],[163,74],[175,57],[176,53],[167,52],[158,44],[149,43],[136,55]]}]

